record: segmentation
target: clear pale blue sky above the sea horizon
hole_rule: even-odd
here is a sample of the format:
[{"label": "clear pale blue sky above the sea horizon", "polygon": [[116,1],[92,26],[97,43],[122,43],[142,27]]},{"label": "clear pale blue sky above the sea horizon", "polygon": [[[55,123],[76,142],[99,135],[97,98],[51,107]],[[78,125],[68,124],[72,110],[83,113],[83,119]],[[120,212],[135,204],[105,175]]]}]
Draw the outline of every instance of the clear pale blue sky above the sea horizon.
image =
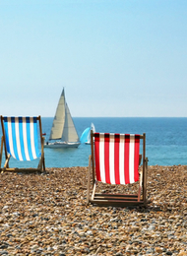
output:
[{"label": "clear pale blue sky above the sea horizon", "polygon": [[0,0],[0,114],[187,117],[186,0]]}]

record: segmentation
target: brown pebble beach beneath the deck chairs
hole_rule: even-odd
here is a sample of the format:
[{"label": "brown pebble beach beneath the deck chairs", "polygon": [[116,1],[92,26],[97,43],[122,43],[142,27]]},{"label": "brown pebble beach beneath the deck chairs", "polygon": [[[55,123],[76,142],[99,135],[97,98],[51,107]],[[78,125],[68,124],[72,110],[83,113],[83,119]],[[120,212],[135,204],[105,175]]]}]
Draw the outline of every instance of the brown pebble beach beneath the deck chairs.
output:
[{"label": "brown pebble beach beneath the deck chairs", "polygon": [[0,255],[187,255],[186,165],[149,166],[146,208],[88,206],[87,175],[1,173]]}]

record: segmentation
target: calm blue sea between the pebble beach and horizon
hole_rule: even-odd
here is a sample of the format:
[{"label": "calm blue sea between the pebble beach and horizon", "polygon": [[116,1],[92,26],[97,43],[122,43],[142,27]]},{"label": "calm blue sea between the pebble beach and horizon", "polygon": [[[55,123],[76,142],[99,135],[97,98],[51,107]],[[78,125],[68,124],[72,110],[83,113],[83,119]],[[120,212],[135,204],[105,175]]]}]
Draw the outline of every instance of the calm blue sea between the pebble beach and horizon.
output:
[{"label": "calm blue sea between the pebble beach and horizon", "polygon": [[[46,139],[52,120],[50,117],[42,118],[42,131],[46,133]],[[146,133],[146,153],[150,165],[187,164],[187,118],[76,117],[74,123],[80,137],[92,122],[96,132]],[[45,149],[45,164],[46,167],[88,166],[90,155],[90,145],[80,145],[78,149]],[[4,164],[4,155],[2,162]],[[11,160],[10,166],[35,167],[37,162],[38,160],[33,160],[28,165]]]}]

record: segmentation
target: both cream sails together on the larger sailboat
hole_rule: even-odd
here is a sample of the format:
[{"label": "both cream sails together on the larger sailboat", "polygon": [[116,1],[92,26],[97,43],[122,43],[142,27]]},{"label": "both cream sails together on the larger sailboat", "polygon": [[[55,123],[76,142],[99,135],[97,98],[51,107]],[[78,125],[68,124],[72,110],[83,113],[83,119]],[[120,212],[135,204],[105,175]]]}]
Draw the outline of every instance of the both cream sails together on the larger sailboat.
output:
[{"label": "both cream sails together on the larger sailboat", "polygon": [[64,142],[79,141],[79,136],[65,99],[64,89],[56,108],[49,140],[62,140]]}]

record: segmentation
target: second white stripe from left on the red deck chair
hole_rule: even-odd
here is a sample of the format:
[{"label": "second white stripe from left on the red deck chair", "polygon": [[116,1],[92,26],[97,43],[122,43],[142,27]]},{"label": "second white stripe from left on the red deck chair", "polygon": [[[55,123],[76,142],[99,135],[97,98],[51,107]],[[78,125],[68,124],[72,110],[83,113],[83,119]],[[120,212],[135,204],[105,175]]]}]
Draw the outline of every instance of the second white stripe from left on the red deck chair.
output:
[{"label": "second white stripe from left on the red deck chair", "polygon": [[115,184],[114,134],[110,134],[110,139],[109,139],[109,176],[110,176],[111,184]]}]

